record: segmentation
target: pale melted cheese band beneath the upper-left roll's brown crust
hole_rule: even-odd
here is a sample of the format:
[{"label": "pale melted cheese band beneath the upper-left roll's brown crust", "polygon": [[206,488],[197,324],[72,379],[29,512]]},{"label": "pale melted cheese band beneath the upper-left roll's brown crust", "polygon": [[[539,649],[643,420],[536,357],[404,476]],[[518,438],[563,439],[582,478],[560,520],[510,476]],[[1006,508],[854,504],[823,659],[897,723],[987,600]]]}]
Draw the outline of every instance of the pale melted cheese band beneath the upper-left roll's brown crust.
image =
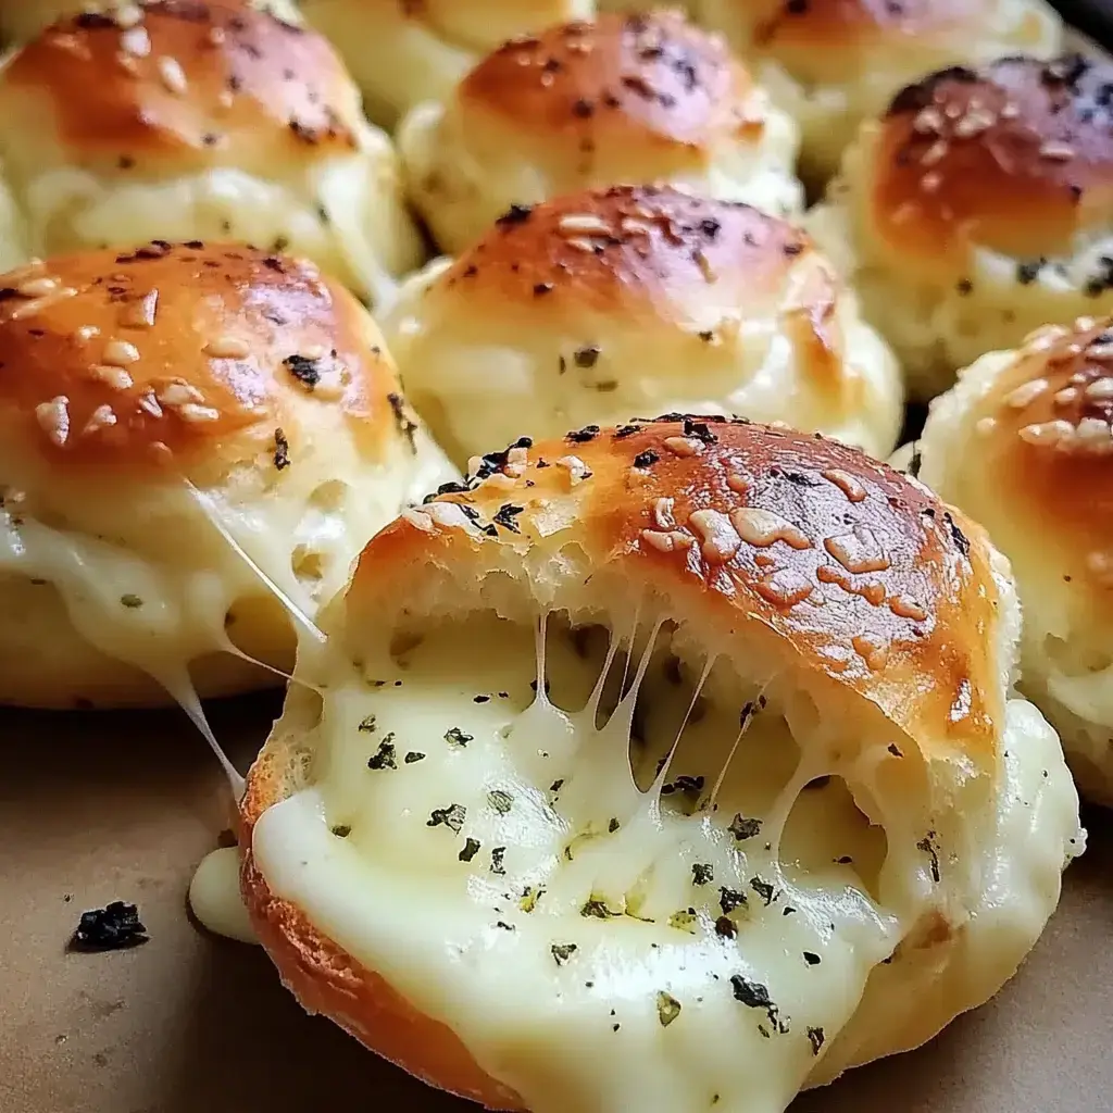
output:
[{"label": "pale melted cheese band beneath the upper-left roll's brown crust", "polygon": [[155,238],[285,245],[378,304],[393,295],[391,276],[417,265],[421,244],[390,140],[371,126],[357,136],[355,154],[285,177],[215,167],[162,180],[102,178],[76,167],[24,169],[16,159],[8,170],[31,254]]}]

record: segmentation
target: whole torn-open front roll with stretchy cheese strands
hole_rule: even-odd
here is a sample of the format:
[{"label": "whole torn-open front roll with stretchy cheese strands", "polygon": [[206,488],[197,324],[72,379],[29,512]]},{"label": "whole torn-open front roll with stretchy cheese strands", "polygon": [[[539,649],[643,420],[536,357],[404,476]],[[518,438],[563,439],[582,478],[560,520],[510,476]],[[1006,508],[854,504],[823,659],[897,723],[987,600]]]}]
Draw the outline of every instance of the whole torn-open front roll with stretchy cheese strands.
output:
[{"label": "whole torn-open front roll with stretchy cheese strands", "polygon": [[784,1110],[994,994],[1082,848],[1007,564],[823,439],[520,442],[324,623],[248,908],[307,1008],[490,1107]]}]

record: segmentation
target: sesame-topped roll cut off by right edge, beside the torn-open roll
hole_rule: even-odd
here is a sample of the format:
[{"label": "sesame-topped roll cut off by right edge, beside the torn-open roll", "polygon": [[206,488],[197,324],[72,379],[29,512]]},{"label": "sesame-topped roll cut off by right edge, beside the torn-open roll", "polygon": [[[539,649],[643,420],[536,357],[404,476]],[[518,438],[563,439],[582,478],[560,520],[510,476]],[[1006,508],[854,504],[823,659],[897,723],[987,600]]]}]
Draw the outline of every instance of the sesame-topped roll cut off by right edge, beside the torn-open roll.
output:
[{"label": "sesame-topped roll cut off by right edge, beside the torn-open roll", "polygon": [[1022,689],[1083,791],[1113,804],[1113,319],[1047,326],[937,398],[920,475],[1008,554]]}]

